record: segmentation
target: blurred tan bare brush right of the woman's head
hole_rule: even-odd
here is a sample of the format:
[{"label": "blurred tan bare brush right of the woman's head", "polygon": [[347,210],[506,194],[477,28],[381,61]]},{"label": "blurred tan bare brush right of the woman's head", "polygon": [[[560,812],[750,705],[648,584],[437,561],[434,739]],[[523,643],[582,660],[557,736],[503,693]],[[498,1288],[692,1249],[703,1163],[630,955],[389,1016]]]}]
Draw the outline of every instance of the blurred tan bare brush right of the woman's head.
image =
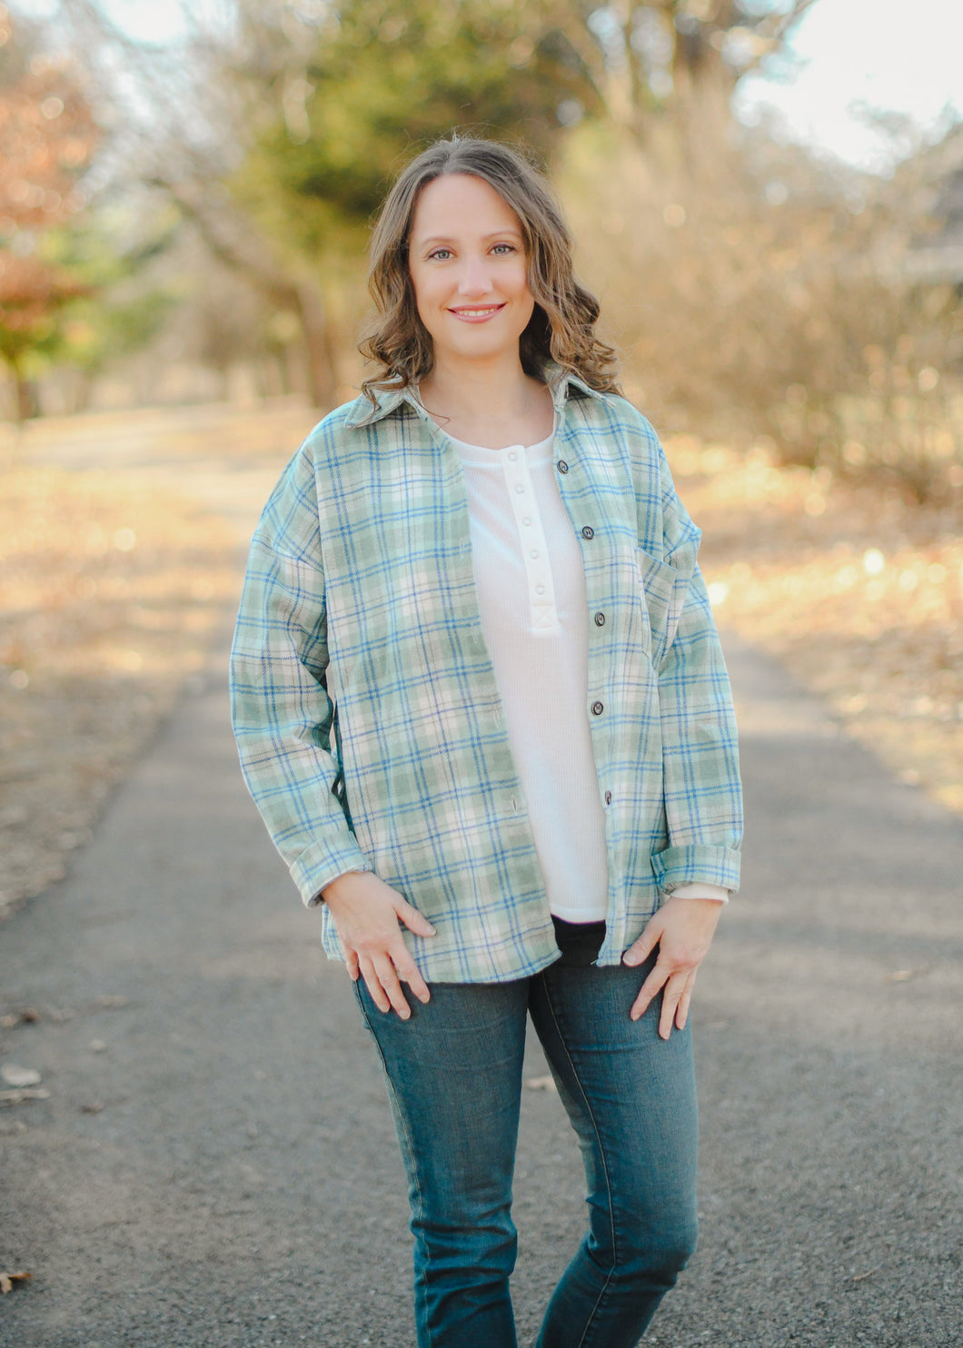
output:
[{"label": "blurred tan bare brush right of the woman's head", "polygon": [[643,151],[585,123],[561,171],[633,398],[742,449],[765,434],[784,462],[959,493],[963,305],[906,260],[935,225],[925,156],[847,179],[769,136],[705,125],[693,158],[660,152],[666,132]]}]

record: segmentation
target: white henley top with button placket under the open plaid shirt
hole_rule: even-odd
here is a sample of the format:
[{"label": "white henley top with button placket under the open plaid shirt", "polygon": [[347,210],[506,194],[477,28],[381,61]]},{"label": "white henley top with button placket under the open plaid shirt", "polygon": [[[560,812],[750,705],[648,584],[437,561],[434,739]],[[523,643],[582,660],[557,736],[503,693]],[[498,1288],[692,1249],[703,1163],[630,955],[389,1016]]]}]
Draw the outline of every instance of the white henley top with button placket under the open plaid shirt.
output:
[{"label": "white henley top with button placket under the open plaid shirt", "polygon": [[[449,438],[465,470],[482,631],[549,907],[566,922],[597,922],[608,907],[608,863],[585,712],[585,576],[556,483],[554,435],[504,449]],[[704,883],[673,892],[728,898]]]}]

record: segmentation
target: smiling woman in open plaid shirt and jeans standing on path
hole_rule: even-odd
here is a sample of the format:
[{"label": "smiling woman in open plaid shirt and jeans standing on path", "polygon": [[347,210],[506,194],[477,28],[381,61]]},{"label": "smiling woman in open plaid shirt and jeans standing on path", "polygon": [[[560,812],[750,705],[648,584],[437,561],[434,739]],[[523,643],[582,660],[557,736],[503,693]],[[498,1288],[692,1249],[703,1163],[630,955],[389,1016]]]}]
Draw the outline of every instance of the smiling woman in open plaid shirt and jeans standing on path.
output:
[{"label": "smiling woman in open plaid shirt and jeans standing on path", "polygon": [[619,1348],[693,1247],[687,1022],[738,887],[699,530],[518,154],[453,137],[409,164],[371,290],[380,368],[254,537],[241,763],[384,1065],[419,1345],[517,1341],[530,1015],[589,1204],[537,1344]]}]

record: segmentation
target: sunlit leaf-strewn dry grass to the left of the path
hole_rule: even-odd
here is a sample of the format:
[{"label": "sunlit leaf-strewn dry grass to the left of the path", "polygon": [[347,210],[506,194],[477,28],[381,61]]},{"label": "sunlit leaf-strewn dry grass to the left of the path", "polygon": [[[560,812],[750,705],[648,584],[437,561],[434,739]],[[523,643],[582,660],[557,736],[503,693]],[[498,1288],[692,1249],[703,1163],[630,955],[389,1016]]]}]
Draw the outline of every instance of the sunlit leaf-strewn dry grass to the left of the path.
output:
[{"label": "sunlit leaf-strewn dry grass to the left of the path", "polygon": [[0,910],[63,875],[236,585],[233,531],[177,492],[0,462]]}]

